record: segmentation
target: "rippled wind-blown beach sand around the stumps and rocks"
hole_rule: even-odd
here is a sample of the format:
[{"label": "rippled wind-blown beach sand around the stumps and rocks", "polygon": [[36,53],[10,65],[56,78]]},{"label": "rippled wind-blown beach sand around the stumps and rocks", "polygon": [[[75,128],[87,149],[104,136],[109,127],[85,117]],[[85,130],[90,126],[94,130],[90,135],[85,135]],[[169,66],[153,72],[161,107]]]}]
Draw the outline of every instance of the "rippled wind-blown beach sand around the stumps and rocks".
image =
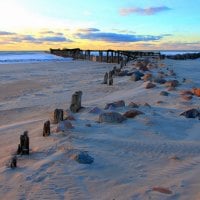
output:
[{"label": "rippled wind-blown beach sand around the stumps and rocks", "polygon": [[[187,79],[167,97],[159,95],[166,90],[163,85],[147,90],[143,81],[130,77],[114,78],[114,86],[102,85],[104,73],[114,64],[0,65],[0,199],[200,199],[200,123],[179,116],[199,106],[198,97],[188,102],[179,91],[200,87],[200,60],[162,62],[164,69],[175,70],[180,82]],[[86,109],[74,115],[75,128],[43,138],[44,121],[55,108],[68,109],[77,90],[83,91]],[[96,123],[98,115],[88,113],[115,100],[147,102],[151,108],[140,106],[144,115],[118,125]],[[91,127],[85,126],[88,123]],[[30,155],[20,156],[18,168],[9,169],[6,165],[25,130]],[[94,163],[71,160],[71,150],[88,151]],[[156,186],[172,194],[152,191]]]}]

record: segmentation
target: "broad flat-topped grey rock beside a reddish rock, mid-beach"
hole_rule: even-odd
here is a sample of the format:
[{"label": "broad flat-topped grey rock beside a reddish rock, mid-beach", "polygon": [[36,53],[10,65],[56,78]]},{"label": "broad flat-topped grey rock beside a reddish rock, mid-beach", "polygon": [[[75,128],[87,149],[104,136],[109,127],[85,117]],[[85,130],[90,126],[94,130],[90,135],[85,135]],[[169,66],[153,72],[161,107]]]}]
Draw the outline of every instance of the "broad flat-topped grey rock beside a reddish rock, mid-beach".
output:
[{"label": "broad flat-topped grey rock beside a reddish rock, mid-beach", "polygon": [[99,122],[107,122],[107,123],[121,123],[126,118],[117,112],[106,112],[99,115]]}]

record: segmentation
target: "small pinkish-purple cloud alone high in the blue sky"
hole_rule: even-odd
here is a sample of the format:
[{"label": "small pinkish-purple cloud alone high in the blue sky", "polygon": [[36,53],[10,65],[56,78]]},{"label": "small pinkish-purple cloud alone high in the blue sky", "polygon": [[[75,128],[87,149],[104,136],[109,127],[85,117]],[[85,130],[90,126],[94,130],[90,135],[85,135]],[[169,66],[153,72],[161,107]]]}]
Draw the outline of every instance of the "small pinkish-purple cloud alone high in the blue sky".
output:
[{"label": "small pinkish-purple cloud alone high in the blue sky", "polygon": [[131,7],[131,8],[121,8],[119,13],[121,16],[126,16],[130,14],[155,15],[159,12],[168,11],[168,10],[171,10],[171,8],[167,6],[158,6],[158,7],[149,7],[149,8]]}]

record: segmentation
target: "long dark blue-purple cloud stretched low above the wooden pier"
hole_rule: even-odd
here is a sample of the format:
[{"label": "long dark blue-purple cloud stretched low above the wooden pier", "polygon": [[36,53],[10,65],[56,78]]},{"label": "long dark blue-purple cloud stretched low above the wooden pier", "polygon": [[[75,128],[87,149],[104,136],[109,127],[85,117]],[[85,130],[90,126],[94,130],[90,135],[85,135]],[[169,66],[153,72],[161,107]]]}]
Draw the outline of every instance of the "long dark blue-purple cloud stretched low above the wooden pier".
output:
[{"label": "long dark blue-purple cloud stretched low above the wooden pier", "polygon": [[106,32],[91,32],[91,33],[77,33],[76,36],[80,39],[105,41],[105,42],[139,42],[139,41],[156,41],[162,39],[164,36],[153,35],[134,35],[122,33],[106,33]]}]

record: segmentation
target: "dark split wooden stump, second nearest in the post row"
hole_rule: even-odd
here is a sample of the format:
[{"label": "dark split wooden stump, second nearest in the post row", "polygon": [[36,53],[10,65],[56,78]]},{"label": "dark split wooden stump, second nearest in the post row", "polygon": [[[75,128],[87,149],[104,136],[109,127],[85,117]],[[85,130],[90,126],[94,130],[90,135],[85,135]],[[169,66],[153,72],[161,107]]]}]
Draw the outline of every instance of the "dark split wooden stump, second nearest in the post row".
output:
[{"label": "dark split wooden stump, second nearest in the post row", "polygon": [[22,154],[22,155],[29,154],[28,131],[24,131],[24,134],[20,136],[20,144],[18,145],[17,154]]}]

